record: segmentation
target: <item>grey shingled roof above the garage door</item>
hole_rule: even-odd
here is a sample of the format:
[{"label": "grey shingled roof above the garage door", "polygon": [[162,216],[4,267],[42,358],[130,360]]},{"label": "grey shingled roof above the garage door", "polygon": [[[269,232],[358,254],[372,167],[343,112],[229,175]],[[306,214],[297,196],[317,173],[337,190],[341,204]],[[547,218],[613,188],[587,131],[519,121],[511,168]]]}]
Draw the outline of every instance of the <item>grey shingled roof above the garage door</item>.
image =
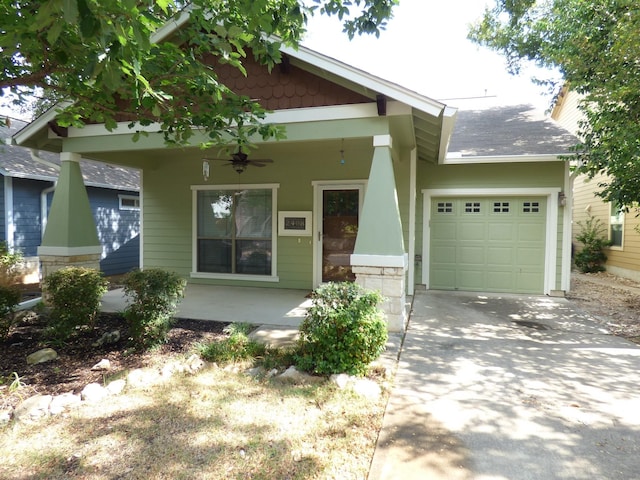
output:
[{"label": "grey shingled roof above the garage door", "polygon": [[532,105],[460,109],[447,158],[563,155],[576,143]]}]

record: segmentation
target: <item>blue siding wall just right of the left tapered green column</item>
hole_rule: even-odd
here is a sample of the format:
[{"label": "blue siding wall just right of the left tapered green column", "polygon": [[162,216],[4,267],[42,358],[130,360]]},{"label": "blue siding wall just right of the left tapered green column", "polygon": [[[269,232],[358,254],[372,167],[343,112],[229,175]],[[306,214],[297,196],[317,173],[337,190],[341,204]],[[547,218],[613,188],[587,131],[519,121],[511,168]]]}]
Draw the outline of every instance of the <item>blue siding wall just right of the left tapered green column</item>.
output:
[{"label": "blue siding wall just right of the left tapered green column", "polygon": [[140,211],[120,210],[119,195],[137,192],[87,187],[102,245],[100,269],[105,275],[126,273],[140,265]]}]

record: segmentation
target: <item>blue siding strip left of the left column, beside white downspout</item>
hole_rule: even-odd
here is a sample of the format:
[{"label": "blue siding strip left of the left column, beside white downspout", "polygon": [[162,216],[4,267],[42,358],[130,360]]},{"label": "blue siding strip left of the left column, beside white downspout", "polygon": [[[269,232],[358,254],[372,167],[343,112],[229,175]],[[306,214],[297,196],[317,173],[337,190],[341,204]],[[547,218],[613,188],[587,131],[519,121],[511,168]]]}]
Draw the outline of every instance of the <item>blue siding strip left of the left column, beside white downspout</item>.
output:
[{"label": "blue siding strip left of the left column, beside white downspout", "polygon": [[24,256],[37,255],[42,240],[40,192],[50,186],[51,182],[13,179],[13,245]]}]

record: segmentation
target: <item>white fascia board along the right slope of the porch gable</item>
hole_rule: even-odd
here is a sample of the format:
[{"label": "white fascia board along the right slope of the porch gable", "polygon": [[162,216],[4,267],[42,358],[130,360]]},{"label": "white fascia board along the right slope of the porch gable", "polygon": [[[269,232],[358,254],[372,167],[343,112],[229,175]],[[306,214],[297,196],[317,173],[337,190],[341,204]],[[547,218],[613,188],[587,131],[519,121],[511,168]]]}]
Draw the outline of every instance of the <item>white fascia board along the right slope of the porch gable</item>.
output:
[{"label": "white fascia board along the right slope of the porch gable", "polygon": [[280,48],[280,51],[293,58],[297,58],[300,61],[314,65],[321,70],[325,70],[329,73],[342,77],[345,80],[349,80],[357,85],[361,85],[402,103],[406,103],[407,105],[434,117],[439,117],[446,107],[445,104],[438,102],[437,100],[420,95],[413,90],[409,90],[393,82],[389,82],[388,80],[371,75],[370,73],[359,70],[326,55],[322,55],[321,53],[315,52],[309,48],[302,46],[293,48],[283,45]]}]

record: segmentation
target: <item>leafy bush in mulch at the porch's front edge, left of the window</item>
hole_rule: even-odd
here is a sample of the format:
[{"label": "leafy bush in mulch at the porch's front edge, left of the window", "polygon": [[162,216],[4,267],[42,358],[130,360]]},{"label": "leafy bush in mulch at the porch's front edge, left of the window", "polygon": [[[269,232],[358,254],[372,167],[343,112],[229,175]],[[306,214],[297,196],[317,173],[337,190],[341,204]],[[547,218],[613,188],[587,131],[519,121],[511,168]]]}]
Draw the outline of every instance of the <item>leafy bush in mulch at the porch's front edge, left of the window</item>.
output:
[{"label": "leafy bush in mulch at the porch's front edge, left of the window", "polygon": [[161,269],[134,270],[124,279],[124,293],[132,303],[124,311],[129,334],[137,348],[151,348],[167,341],[186,281]]}]

